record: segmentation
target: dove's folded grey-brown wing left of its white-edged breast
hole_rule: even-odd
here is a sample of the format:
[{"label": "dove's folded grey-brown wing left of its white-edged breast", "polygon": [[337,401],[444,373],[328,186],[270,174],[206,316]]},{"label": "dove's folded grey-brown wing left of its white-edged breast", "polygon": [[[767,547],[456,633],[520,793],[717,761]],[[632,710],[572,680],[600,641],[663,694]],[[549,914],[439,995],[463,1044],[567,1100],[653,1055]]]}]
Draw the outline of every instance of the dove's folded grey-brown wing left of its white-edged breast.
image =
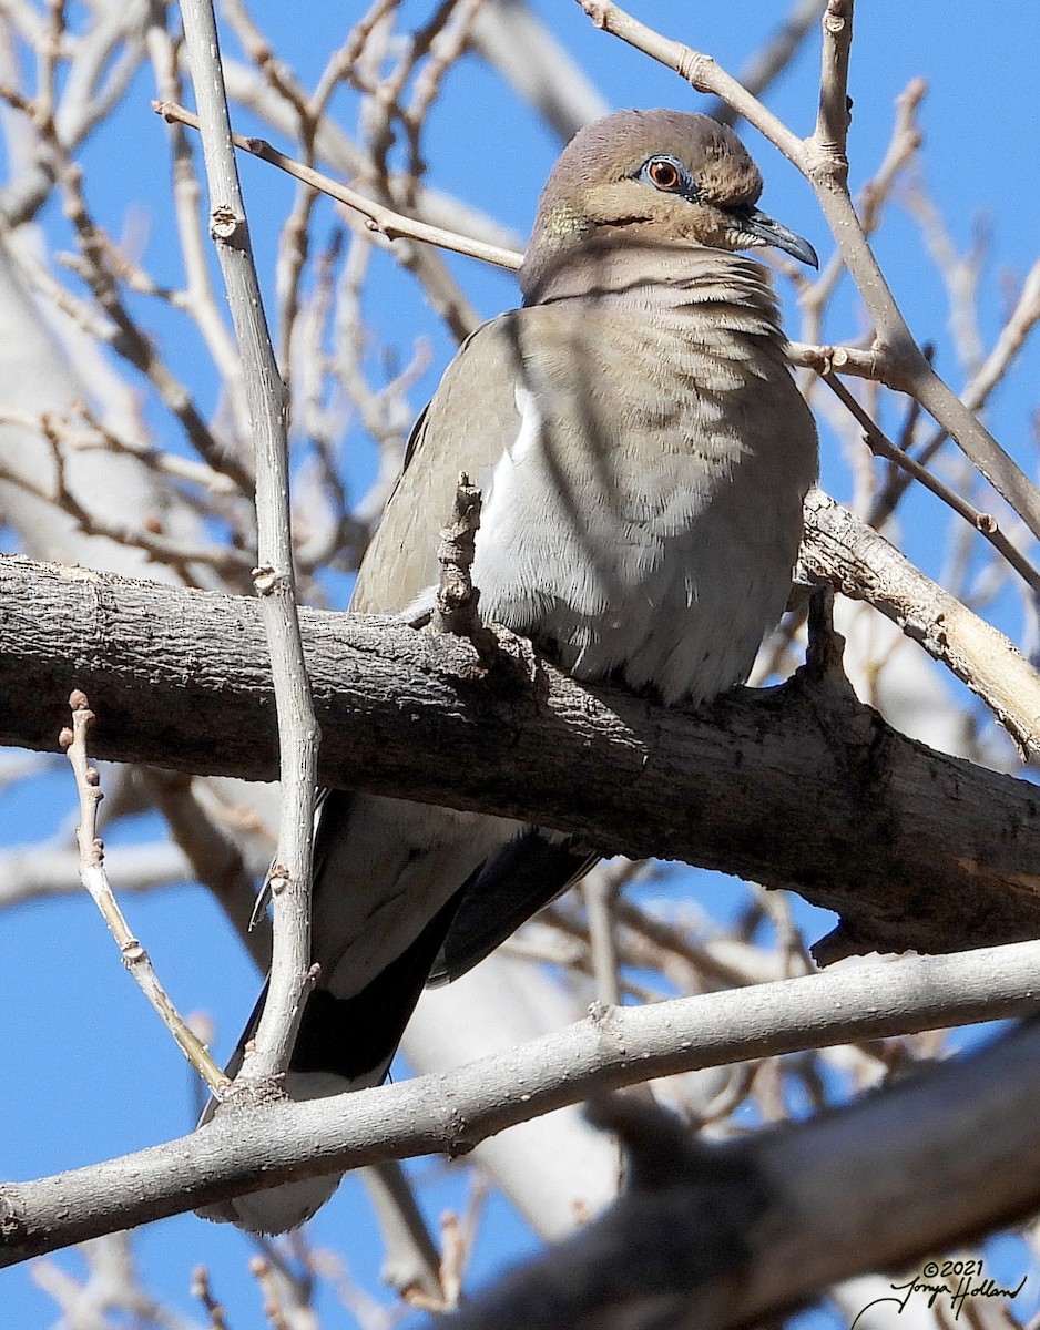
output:
[{"label": "dove's folded grey-brown wing left of its white-edged breast", "polygon": [[[362,561],[352,610],[396,613],[436,583],[440,528],[451,516],[459,472],[479,484],[520,428],[517,318],[524,313],[492,319],[463,342],[416,422],[404,469]],[[416,531],[419,521],[428,529]]]}]

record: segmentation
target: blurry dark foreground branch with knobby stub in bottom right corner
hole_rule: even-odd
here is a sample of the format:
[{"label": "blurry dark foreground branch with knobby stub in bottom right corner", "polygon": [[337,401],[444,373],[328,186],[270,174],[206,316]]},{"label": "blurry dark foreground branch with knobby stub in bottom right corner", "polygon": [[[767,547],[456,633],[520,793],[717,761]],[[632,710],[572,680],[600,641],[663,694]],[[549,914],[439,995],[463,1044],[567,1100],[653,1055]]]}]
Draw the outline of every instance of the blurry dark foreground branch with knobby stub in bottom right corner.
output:
[{"label": "blurry dark foreground branch with knobby stub in bottom right corner", "polygon": [[[440,1322],[451,1330],[726,1330],[773,1325],[827,1285],[956,1250],[1040,1205],[1035,1020],[851,1109],[706,1146],[632,1099],[597,1109],[628,1146],[628,1193],[598,1222]],[[1009,1093],[1009,1087],[1015,1088]],[[898,1198],[898,1201],[896,1201]],[[952,1319],[987,1305],[985,1279]],[[981,1269],[981,1266],[979,1266]],[[988,1270],[987,1270],[988,1274]],[[902,1278],[886,1281],[895,1319]],[[1019,1274],[1011,1277],[1017,1283]],[[1024,1281],[1023,1281],[1024,1282]],[[996,1287],[997,1281],[989,1281]],[[1007,1291],[1012,1291],[1007,1290]],[[988,1294],[995,1297],[993,1293]],[[928,1291],[911,1310],[931,1306]],[[868,1299],[860,1303],[864,1310]],[[985,1323],[971,1311],[966,1321]],[[874,1321],[872,1323],[887,1323]]]}]

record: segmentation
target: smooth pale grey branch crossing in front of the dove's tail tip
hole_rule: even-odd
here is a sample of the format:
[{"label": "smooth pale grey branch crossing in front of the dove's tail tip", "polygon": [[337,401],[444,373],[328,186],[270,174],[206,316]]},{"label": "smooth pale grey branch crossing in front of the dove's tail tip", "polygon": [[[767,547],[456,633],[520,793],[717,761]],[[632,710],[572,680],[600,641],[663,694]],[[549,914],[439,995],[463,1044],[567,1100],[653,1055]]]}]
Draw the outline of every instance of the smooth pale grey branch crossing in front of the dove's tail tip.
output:
[{"label": "smooth pale grey branch crossing in front of the dove's tail tip", "polygon": [[[649,1007],[596,1007],[575,1025],[450,1073],[305,1104],[231,1104],[234,1112],[192,1136],[0,1186],[0,1265],[290,1177],[431,1152],[465,1153],[516,1123],[653,1076],[1024,1013],[1036,1003],[1036,968],[1037,947],[1024,943],[863,964]],[[1036,1059],[1031,1063],[1040,1067]],[[1037,1075],[1016,1068],[1003,1089],[996,1079],[988,1085],[1017,1108],[1020,1128],[1028,1124],[1033,1136],[1035,1091],[1015,1077]],[[1016,1085],[1015,1095],[1007,1093],[1008,1084]],[[904,1116],[903,1130],[919,1136],[926,1121]],[[835,1166],[842,1157],[835,1152]],[[958,1168],[970,1169],[972,1161],[987,1164],[981,1150],[955,1156]],[[1016,1194],[1011,1182],[1020,1186],[1024,1180],[1008,1182],[1008,1198]],[[958,1185],[970,1194],[971,1178]],[[1029,1185],[1035,1198],[1040,1189],[1032,1180]],[[922,1204],[926,1197],[946,1209],[940,1176],[922,1189]],[[891,1208],[891,1192],[884,1198]]]}]

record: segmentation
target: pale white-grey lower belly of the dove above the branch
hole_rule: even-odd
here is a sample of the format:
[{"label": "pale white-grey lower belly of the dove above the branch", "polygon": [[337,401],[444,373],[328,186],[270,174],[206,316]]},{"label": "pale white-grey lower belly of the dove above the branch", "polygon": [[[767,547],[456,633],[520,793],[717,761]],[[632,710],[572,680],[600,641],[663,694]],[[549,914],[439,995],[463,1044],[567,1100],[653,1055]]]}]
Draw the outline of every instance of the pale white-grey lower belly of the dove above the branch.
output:
[{"label": "pale white-grey lower belly of the dove above the branch", "polygon": [[701,435],[697,454],[662,450],[634,469],[606,450],[580,466],[569,455],[564,481],[535,395],[519,388],[516,403],[516,442],[481,477],[483,616],[551,646],[577,677],[620,672],[665,702],[746,678],[787,600],[797,485],[763,515],[751,488],[773,479],[770,459],[723,431],[709,456]]}]

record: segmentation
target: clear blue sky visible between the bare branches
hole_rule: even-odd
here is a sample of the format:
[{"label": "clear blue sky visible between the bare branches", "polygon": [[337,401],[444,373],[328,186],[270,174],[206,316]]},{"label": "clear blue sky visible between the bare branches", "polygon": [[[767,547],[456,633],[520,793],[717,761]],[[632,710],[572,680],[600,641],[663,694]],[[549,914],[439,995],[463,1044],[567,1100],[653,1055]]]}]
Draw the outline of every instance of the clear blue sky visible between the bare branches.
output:
[{"label": "clear blue sky visible between the bare branches", "polygon": [[[698,108],[700,98],[674,74],[596,32],[576,4],[540,0],[532,8],[583,63],[610,105]],[[646,0],[632,8],[644,21],[713,53],[735,72],[783,16],[786,4]],[[74,7],[70,12],[76,13]],[[342,41],[356,11],[354,5],[315,0],[306,7],[306,23],[299,21],[299,12],[275,0],[253,5],[254,17],[282,57],[309,82],[330,49]],[[418,15],[426,8],[410,4],[407,12]],[[939,0],[912,5],[878,0],[863,3],[856,16],[852,182],[866,180],[883,156],[894,97],[908,78],[923,74],[930,92],[920,120],[934,197],[959,246],[971,243],[980,218],[992,231],[981,302],[987,344],[1003,321],[1001,274],[1021,277],[1037,254],[1037,49],[1036,5],[1012,11]],[[770,105],[799,133],[813,128],[817,65],[813,40],[769,96]],[[102,221],[118,235],[128,214],[144,218],[149,229],[148,262],[160,279],[177,281],[178,261],[165,221],[165,129],[149,109],[152,96],[150,76],[144,72],[112,125],[88,145],[82,162],[92,206]],[[344,128],[352,130],[355,112],[350,101],[343,98],[336,109]],[[245,132],[258,128],[245,116],[234,118]],[[830,241],[809,186],[757,134],[747,133],[746,141],[766,177],[763,206],[807,235],[826,258]],[[291,145],[279,146],[291,150]],[[426,156],[434,184],[485,207],[523,234],[559,146],[493,72],[468,59],[447,80],[444,98],[430,121]],[[133,169],[126,169],[128,162]],[[242,176],[257,255],[270,293],[277,226],[291,200],[291,186],[258,162],[243,162]],[[52,234],[64,234],[64,222],[53,207],[44,225]],[[331,207],[325,207],[315,234],[322,238],[332,225]],[[938,367],[959,387],[946,331],[946,294],[916,226],[898,205],[890,210],[876,250],[911,327],[920,339],[938,342]],[[489,317],[515,302],[509,277],[463,258],[451,259],[451,265],[483,314]],[[415,314],[407,277],[394,274],[390,262],[382,261],[380,278],[368,307],[380,338],[399,346],[403,358],[410,355],[416,335],[430,338],[432,344],[434,368],[415,390],[419,408],[447,363],[451,346],[432,314]],[[190,339],[182,336],[184,325],[142,298],[134,305],[201,400],[211,406],[215,382]],[[399,307],[406,317],[399,317]],[[847,291],[838,311],[827,330],[834,340],[855,335],[859,329],[856,303]],[[993,432],[1029,473],[1036,471],[1031,420],[1039,371],[1040,351],[1032,344],[988,415]],[[164,442],[174,447],[176,438],[166,434],[169,424],[162,414],[149,408],[148,416]],[[364,442],[352,436],[348,450],[350,473],[360,483],[370,467]],[[845,463],[827,450],[826,439],[823,476],[838,497],[847,495]],[[932,499],[914,499],[904,524],[906,547],[934,575],[939,571],[944,524],[946,516]],[[346,587],[331,587],[332,600],[342,602],[346,595]],[[1001,626],[1017,636],[1015,597],[1004,597],[996,608],[1007,616]],[[68,835],[72,802],[70,779],[56,761],[32,782],[0,794],[0,842],[15,846],[41,835]],[[141,817],[122,825],[112,843],[146,841],[158,833],[156,818]],[[725,879],[688,874],[682,890],[714,910],[727,887]],[[226,1053],[253,1004],[257,976],[209,896],[192,884],[172,886],[134,898],[128,914],[177,1003],[185,1011],[201,1008],[211,1013],[218,1051]],[[807,907],[805,918],[810,918]],[[817,935],[827,924],[807,922],[807,927]],[[7,1039],[0,1047],[0,1084],[5,1088],[0,1105],[0,1173],[28,1178],[125,1153],[190,1128],[195,1108],[189,1073],[122,971],[89,902],[43,902],[0,914],[0,974],[7,1011]],[[431,1193],[424,1193],[432,1216],[447,1204],[459,1204],[464,1193],[457,1170],[444,1170],[436,1161],[423,1161],[416,1169],[423,1176],[444,1174]],[[532,1248],[531,1234],[507,1202],[496,1198],[491,1210],[493,1222],[485,1222],[476,1248],[473,1273],[479,1278]],[[378,1289],[379,1242],[356,1182],[344,1185],[336,1202],[315,1221],[314,1233],[319,1242],[344,1252],[354,1274]],[[181,1217],[142,1233],[137,1250],[146,1282],[182,1311],[195,1314],[188,1295],[189,1277],[194,1265],[205,1262],[217,1271],[215,1291],[229,1305],[233,1323],[259,1323],[258,1293],[245,1270],[250,1248],[238,1233]],[[69,1269],[77,1267],[74,1254],[60,1260]],[[56,1319],[53,1303],[33,1287],[25,1267],[0,1271],[0,1326],[35,1330]],[[342,1313],[328,1311],[328,1326],[347,1323]]]}]

